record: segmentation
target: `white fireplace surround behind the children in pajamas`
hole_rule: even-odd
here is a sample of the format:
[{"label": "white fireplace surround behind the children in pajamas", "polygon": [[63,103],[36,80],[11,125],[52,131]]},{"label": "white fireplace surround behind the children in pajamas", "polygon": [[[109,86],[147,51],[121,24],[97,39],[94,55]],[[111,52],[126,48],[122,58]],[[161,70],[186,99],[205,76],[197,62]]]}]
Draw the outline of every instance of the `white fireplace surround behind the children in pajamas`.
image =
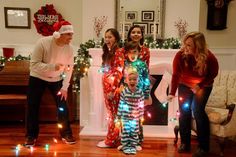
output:
[{"label": "white fireplace surround behind the children in pajamas", "polygon": [[[151,49],[150,74],[163,75],[172,73],[172,61],[178,50]],[[106,108],[103,100],[102,73],[99,73],[102,60],[101,49],[89,49],[92,56],[92,65],[88,76],[80,81],[80,125],[83,129],[80,136],[105,136],[107,129]],[[177,121],[177,100],[168,103],[167,125],[144,125],[144,137],[174,137],[173,128]]]}]

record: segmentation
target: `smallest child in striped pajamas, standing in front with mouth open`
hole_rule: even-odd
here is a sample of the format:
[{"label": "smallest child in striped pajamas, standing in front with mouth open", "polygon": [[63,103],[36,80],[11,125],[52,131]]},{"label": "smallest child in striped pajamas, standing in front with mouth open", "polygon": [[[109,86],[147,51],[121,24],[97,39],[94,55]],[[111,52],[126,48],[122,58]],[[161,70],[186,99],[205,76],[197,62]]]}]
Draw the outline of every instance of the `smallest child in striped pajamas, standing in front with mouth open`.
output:
[{"label": "smallest child in striped pajamas, standing in front with mouth open", "polygon": [[139,144],[140,120],[144,113],[144,93],[137,88],[139,74],[137,69],[130,66],[126,68],[127,86],[123,89],[117,113],[117,124],[121,124],[121,146],[125,154],[136,154]]}]

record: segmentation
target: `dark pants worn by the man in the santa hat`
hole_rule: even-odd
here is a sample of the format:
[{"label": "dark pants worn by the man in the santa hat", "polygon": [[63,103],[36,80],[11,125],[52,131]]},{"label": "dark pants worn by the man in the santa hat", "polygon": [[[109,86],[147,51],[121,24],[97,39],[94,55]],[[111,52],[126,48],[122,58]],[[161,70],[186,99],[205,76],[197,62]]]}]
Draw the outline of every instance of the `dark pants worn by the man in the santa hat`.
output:
[{"label": "dark pants worn by the man in the santa hat", "polygon": [[[29,89],[27,93],[27,119],[26,119],[26,137],[37,138],[39,134],[39,107],[41,98],[46,88],[48,88],[53,95],[53,98],[57,105],[57,118],[58,123],[62,124],[60,128],[60,134],[62,137],[66,135],[72,135],[72,131],[69,123],[69,113],[67,103],[61,97],[57,95],[58,91],[62,87],[62,81],[47,82],[36,77],[30,76]],[[62,110],[63,109],[63,110]]]}]

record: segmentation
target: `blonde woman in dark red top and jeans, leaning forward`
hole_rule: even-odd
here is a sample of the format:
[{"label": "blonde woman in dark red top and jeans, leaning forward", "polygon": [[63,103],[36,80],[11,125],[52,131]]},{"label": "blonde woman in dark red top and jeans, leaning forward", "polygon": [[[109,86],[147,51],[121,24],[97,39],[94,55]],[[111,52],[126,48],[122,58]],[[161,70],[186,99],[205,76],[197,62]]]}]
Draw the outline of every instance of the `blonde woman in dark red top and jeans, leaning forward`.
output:
[{"label": "blonde woman in dark red top and jeans, leaning forward", "polygon": [[200,32],[187,34],[183,40],[183,48],[173,61],[171,91],[168,96],[169,100],[174,98],[178,88],[181,137],[179,153],[190,152],[191,149],[192,112],[199,142],[199,148],[193,156],[204,156],[209,151],[210,128],[205,106],[218,70],[218,61],[207,49],[204,35]]}]

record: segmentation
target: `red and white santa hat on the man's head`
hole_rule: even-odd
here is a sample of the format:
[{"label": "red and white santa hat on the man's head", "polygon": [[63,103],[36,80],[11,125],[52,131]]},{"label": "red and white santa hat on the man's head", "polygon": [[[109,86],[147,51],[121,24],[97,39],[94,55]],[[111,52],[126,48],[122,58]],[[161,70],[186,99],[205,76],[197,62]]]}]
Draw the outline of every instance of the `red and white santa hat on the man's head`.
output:
[{"label": "red and white santa hat on the man's head", "polygon": [[54,23],[53,29],[55,31],[53,37],[56,39],[60,38],[61,34],[74,33],[73,26],[68,21],[59,21]]}]

